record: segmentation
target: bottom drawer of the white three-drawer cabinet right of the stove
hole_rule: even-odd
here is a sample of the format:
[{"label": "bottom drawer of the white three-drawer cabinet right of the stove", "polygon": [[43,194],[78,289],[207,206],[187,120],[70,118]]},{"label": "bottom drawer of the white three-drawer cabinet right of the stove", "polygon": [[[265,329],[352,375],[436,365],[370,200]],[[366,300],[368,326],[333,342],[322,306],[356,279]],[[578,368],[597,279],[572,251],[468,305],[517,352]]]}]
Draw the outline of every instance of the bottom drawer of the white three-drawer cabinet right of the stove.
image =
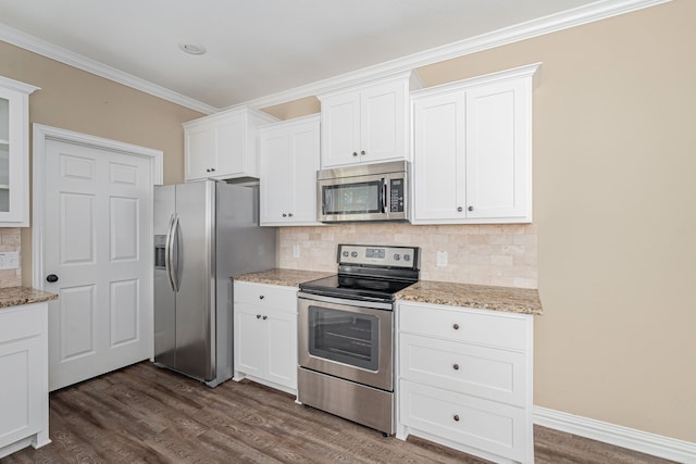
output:
[{"label": "bottom drawer of the white three-drawer cabinet right of the stove", "polygon": [[407,380],[399,387],[402,425],[511,460],[525,459],[532,423],[523,409]]}]

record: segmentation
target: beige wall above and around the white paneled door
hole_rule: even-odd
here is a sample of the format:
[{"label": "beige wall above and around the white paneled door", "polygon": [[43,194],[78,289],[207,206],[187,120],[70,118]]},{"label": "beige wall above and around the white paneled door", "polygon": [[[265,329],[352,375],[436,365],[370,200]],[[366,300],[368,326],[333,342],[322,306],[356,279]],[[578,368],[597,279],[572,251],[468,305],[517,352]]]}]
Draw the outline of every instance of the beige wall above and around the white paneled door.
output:
[{"label": "beige wall above and around the white paneled door", "polygon": [[[2,41],[0,76],[41,88],[29,99],[30,123],[162,150],[164,183],[184,179],[181,123],[200,117],[201,113]],[[30,228],[22,229],[21,248],[22,281],[30,286]],[[18,243],[15,249],[20,249]]]}]

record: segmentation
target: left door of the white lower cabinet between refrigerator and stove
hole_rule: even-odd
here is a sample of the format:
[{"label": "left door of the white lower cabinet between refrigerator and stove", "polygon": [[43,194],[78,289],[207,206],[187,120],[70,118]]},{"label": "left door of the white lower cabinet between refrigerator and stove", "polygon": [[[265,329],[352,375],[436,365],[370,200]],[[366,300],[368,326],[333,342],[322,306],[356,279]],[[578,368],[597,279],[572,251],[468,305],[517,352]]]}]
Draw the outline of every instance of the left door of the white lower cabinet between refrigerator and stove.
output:
[{"label": "left door of the white lower cabinet between refrigerator and stove", "polygon": [[235,302],[235,372],[261,377],[265,362],[265,325],[262,309]]}]

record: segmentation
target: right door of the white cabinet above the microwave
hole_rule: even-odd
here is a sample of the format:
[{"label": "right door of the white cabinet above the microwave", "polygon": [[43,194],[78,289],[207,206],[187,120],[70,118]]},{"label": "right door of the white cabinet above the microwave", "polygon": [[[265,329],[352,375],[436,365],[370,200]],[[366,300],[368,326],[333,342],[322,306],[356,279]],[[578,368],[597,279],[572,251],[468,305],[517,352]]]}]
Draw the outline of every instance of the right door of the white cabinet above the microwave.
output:
[{"label": "right door of the white cabinet above the microwave", "polygon": [[360,95],[361,163],[403,160],[408,127],[402,81],[365,88]]}]

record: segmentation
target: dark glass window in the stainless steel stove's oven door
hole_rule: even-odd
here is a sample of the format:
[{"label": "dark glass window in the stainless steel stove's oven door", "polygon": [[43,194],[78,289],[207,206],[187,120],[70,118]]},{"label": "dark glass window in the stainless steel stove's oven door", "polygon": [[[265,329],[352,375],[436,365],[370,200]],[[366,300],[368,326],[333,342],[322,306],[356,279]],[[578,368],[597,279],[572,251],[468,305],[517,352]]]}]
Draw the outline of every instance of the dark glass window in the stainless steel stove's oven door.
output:
[{"label": "dark glass window in the stainless steel stove's oven door", "polygon": [[309,306],[309,352],[313,356],[377,371],[378,338],[376,316]]}]

